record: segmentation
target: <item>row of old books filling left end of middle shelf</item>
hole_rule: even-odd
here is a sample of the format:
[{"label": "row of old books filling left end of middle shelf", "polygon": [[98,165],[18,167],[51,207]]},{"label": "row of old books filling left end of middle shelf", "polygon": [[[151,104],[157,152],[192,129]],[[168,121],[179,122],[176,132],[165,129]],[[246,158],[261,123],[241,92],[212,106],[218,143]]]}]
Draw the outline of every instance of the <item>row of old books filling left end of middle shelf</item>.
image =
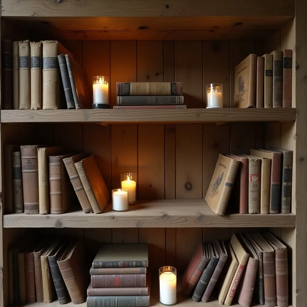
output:
[{"label": "row of old books filling left end of middle shelf", "polygon": [[94,155],[37,145],[6,145],[4,154],[7,213],[61,214],[76,197],[85,213],[100,213],[110,199]]}]

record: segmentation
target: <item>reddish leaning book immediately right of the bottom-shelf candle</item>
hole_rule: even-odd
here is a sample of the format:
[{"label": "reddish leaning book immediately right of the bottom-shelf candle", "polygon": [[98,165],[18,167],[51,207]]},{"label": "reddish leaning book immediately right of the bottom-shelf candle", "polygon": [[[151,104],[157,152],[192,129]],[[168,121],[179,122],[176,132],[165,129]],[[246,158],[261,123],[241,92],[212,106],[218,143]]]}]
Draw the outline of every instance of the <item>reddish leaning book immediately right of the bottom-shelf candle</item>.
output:
[{"label": "reddish leaning book immediately right of the bottom-shelf candle", "polygon": [[203,242],[197,247],[182,278],[182,295],[189,297],[210,260],[208,245]]}]

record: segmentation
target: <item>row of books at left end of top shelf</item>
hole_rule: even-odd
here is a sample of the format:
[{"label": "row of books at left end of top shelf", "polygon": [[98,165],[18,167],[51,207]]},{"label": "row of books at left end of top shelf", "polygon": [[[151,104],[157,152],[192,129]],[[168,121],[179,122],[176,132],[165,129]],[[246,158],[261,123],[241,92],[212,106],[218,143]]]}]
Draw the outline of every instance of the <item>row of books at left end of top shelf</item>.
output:
[{"label": "row of books at left end of top shelf", "polygon": [[3,109],[88,108],[85,70],[58,41],[2,41]]}]

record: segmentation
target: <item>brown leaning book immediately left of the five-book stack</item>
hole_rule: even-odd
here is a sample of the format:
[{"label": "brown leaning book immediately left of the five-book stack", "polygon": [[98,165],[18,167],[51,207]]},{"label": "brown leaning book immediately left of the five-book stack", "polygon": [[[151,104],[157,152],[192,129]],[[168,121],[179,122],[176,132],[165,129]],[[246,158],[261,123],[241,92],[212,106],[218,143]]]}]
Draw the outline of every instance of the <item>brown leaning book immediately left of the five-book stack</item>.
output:
[{"label": "brown leaning book immediately left of the five-book stack", "polygon": [[84,250],[81,241],[69,243],[57,264],[73,304],[84,302]]}]

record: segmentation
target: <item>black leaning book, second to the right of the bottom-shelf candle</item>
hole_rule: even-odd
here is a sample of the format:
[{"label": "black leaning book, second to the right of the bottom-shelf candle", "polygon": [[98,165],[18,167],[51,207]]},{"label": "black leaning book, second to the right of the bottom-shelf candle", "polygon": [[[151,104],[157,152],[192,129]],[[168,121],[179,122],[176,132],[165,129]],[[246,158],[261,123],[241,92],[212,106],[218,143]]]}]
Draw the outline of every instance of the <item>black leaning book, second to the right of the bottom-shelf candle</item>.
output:
[{"label": "black leaning book, second to the right of the bottom-shelf candle", "polygon": [[206,269],[204,270],[203,274],[200,276],[200,279],[192,295],[192,300],[196,302],[199,302],[200,299],[202,298],[205,289],[208,285],[208,282],[216,267],[216,264],[219,260],[219,253],[217,251],[215,244],[213,243],[213,245],[211,245],[210,243],[208,243],[208,249],[209,249],[210,261],[208,262],[208,265],[206,266]]}]

